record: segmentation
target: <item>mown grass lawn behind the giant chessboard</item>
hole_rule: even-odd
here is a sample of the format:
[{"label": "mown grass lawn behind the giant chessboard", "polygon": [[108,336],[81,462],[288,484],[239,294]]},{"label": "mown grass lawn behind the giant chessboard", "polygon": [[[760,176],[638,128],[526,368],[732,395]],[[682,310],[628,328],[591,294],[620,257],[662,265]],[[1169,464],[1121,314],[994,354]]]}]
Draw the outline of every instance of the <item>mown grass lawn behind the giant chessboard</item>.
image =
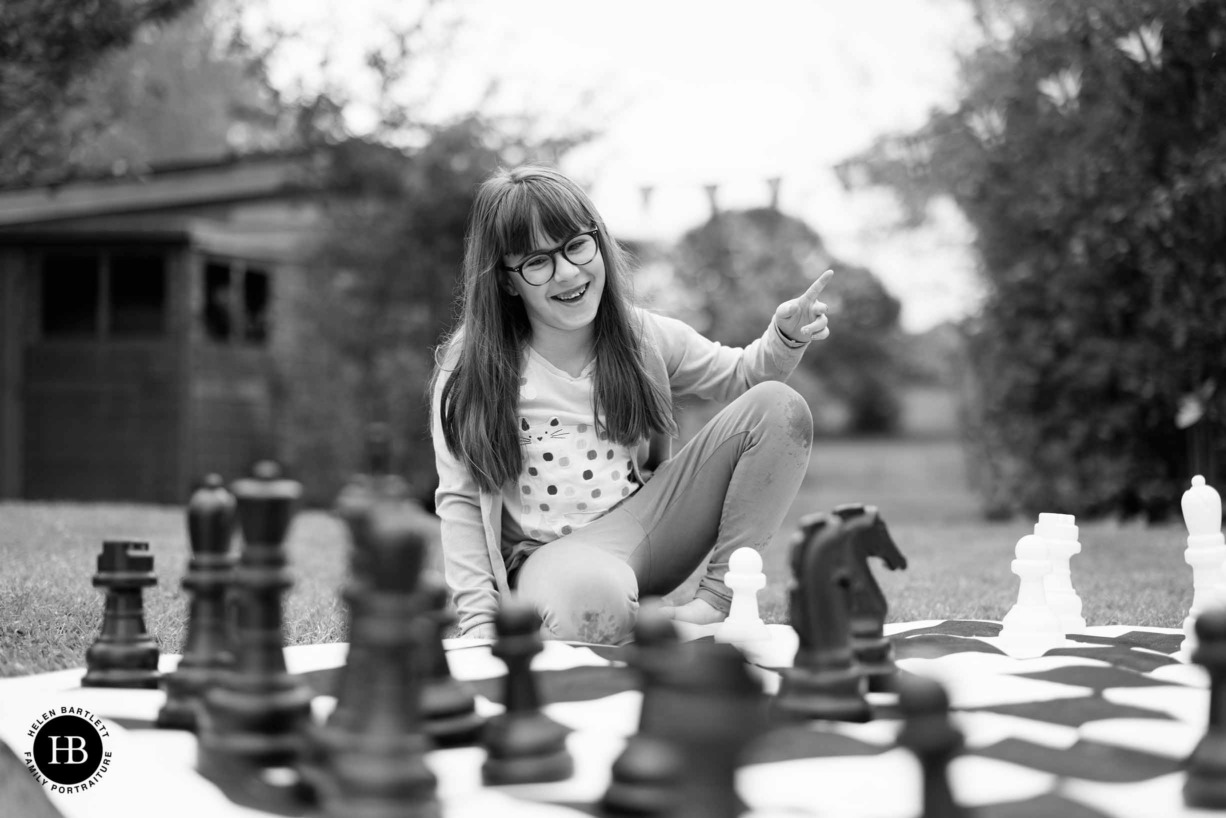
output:
[{"label": "mown grass lawn behind the giant chessboard", "polygon": [[[787,551],[799,518],[861,502],[880,509],[910,563],[904,571],[874,565],[891,621],[1003,617],[1018,594],[1009,570],[1013,549],[1034,520],[982,521],[964,475],[961,450],[951,441],[819,439],[801,495],[766,554],[764,616],[787,619]],[[1178,627],[1192,601],[1186,537],[1182,524],[1083,525],[1073,584],[1086,621]],[[146,623],[164,651],[180,650],[186,597],[179,583],[188,560],[183,509],[0,503],[0,676],[85,663],[102,619],[102,592],[91,578],[107,538],[151,543],[159,581],[145,592]],[[346,551],[332,515],[299,514],[289,536],[297,580],[286,603],[289,644],[345,639],[337,591]],[[688,598],[695,585],[696,576],[674,598]]]}]

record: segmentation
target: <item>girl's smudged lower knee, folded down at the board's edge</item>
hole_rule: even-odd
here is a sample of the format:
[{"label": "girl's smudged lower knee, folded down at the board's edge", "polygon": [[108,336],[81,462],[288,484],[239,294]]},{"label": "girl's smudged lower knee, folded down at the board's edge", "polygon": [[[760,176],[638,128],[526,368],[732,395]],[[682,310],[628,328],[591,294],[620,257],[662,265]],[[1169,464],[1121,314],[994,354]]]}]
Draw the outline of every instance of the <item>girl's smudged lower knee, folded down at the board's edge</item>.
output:
[{"label": "girl's smudged lower knee, folded down at the board's edge", "polygon": [[573,553],[555,558],[544,581],[520,579],[520,594],[541,613],[544,635],[596,644],[625,641],[639,610],[634,570],[604,552],[595,558],[580,553],[595,549],[571,546],[565,551]]}]

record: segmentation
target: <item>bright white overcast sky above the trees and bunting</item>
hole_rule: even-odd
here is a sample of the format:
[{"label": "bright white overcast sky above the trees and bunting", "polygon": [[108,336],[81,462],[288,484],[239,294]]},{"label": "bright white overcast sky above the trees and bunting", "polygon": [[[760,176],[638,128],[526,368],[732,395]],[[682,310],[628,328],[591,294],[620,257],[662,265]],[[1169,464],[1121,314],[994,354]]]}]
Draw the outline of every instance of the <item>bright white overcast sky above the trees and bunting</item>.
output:
[{"label": "bright white overcast sky above the trees and bunting", "polygon": [[[264,0],[256,18],[295,31],[275,64],[284,87],[314,87],[320,60],[358,101],[364,48],[419,0]],[[949,202],[900,232],[884,190],[847,193],[834,166],[884,132],[950,107],[956,49],[973,42],[966,0],[451,0],[459,21],[439,70],[407,91],[445,119],[474,108],[532,113],[541,128],[600,136],[563,159],[615,235],[671,240],[722,208],[780,207],[840,259],[867,266],[922,331],[973,312],[971,231]],[[255,12],[253,12],[255,13]],[[261,17],[262,16],[262,17]],[[497,92],[488,96],[490,81]],[[354,128],[364,126],[362,107]],[[651,189],[644,199],[644,188]],[[804,282],[798,282],[798,293]],[[832,285],[836,286],[836,282]],[[831,316],[834,318],[834,316]]]}]

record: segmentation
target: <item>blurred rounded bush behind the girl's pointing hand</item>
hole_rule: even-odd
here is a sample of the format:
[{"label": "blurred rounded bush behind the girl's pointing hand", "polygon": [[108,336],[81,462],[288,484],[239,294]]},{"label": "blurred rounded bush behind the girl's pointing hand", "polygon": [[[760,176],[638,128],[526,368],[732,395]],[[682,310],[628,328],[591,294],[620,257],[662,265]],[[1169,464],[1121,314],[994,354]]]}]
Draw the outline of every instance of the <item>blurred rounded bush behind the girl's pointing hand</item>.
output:
[{"label": "blurred rounded bush behind the girl's pointing hand", "polygon": [[835,269],[821,294],[830,338],[802,367],[847,405],[846,430],[893,432],[900,305],[872,272],[834,259],[813,228],[774,208],[717,213],[687,233],[677,251],[677,277],[693,302],[688,318],[734,346],[760,336],[775,308],[828,267]]}]

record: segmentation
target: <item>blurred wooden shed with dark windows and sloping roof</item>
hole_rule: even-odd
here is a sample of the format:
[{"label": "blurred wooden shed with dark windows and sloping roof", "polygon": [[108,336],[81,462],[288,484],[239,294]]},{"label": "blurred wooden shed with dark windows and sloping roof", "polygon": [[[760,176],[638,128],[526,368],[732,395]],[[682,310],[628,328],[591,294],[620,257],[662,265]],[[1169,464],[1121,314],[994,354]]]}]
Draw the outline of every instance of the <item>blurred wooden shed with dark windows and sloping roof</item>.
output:
[{"label": "blurred wooden shed with dark windows and sloping roof", "polygon": [[276,456],[319,157],[0,190],[0,498],[181,503]]}]

